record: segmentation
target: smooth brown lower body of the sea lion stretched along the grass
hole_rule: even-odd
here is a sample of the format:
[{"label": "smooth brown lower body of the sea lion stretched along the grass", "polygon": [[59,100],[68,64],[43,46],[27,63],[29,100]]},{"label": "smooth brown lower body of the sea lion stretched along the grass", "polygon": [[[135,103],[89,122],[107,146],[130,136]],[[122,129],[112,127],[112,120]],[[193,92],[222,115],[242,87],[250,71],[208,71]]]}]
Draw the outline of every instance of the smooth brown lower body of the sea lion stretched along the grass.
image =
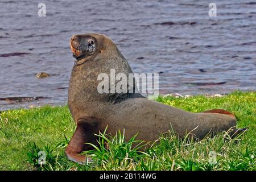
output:
[{"label": "smooth brown lower body of the sea lion stretched along the grass", "polygon": [[[117,104],[98,106],[98,103],[88,103],[86,113],[89,117],[96,117],[98,130],[104,131],[108,126],[108,133],[125,129],[126,138],[138,133],[137,139],[153,141],[160,133],[174,130],[181,138],[192,131],[195,137],[203,139],[211,130],[224,131],[236,126],[236,119],[224,114],[189,113],[175,107],[170,107],[146,98],[130,98]],[[79,112],[79,111],[78,111]],[[79,117],[84,115],[82,110]],[[195,130],[194,130],[195,129]]]}]

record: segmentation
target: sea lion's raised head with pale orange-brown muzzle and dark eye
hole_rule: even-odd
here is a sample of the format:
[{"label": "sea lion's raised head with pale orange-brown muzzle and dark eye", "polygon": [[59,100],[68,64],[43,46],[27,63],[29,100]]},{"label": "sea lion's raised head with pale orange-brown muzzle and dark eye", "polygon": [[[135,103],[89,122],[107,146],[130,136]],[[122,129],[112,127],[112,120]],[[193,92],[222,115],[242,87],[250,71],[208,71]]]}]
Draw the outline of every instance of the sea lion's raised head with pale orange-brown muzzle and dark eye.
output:
[{"label": "sea lion's raised head with pale orange-brown muzzle and dark eye", "polygon": [[102,54],[106,50],[109,52],[110,50],[108,49],[110,48],[116,49],[111,39],[96,33],[73,35],[69,44],[76,61],[88,57],[96,57],[99,53]]}]

